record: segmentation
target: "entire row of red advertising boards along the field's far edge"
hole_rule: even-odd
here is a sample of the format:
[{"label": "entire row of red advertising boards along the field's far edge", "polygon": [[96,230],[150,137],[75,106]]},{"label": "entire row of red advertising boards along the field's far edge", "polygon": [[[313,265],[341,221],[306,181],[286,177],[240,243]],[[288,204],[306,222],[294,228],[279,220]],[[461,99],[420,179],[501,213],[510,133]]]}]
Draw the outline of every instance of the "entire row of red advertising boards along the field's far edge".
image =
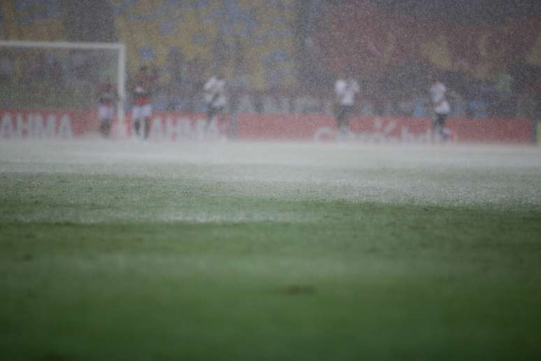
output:
[{"label": "entire row of red advertising boards along the field's far edge", "polygon": [[[229,118],[206,124],[203,113],[157,112],[152,116],[149,138],[182,141],[220,138],[235,133],[236,139],[328,141],[336,138],[331,115],[240,114],[235,129]],[[472,120],[451,118],[447,128],[453,141],[482,143],[531,143],[534,127],[529,120]],[[96,113],[91,111],[0,111],[1,139],[71,139],[97,134]],[[427,143],[433,141],[431,120],[360,116],[350,124],[349,139],[365,142]],[[129,117],[113,125],[113,139],[131,136]]]}]

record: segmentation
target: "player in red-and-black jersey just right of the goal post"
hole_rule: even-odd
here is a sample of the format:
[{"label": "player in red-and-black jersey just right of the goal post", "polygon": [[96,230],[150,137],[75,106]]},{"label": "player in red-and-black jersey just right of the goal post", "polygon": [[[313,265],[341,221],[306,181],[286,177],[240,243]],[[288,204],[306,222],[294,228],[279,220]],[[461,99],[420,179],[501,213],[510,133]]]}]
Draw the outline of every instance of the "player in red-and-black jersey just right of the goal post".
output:
[{"label": "player in red-and-black jersey just right of the goal post", "polygon": [[[150,132],[150,117],[152,117],[152,92],[154,92],[155,78],[148,71],[147,66],[141,66],[136,76],[132,96],[134,107],[131,109],[131,130],[134,135],[148,138]],[[141,125],[144,128],[141,129]],[[140,132],[143,131],[143,134]]]}]

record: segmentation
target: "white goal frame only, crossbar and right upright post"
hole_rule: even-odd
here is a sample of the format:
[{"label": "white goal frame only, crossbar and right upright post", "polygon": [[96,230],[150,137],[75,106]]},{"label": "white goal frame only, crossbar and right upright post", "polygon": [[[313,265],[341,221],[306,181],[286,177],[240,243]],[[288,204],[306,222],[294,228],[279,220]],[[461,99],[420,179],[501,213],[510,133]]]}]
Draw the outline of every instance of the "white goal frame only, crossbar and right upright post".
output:
[{"label": "white goal frame only, crossbar and right upright post", "polygon": [[70,41],[4,41],[0,40],[0,49],[26,48],[26,49],[53,49],[53,50],[112,50],[117,52],[116,87],[120,97],[117,102],[117,120],[120,127],[120,136],[124,136],[124,106],[126,100],[126,45],[123,43],[79,43]]}]

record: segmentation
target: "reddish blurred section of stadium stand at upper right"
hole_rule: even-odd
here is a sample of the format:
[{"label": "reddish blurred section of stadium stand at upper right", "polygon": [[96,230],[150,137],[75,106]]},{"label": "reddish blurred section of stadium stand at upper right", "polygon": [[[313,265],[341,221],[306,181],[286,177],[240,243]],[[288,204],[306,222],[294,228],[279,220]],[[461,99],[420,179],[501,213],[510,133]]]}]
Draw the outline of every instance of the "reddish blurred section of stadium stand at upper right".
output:
[{"label": "reddish blurred section of stadium stand at upper right", "polygon": [[531,98],[540,77],[541,20],[455,21],[389,13],[372,1],[329,2],[311,36],[327,69],[349,67],[367,93],[387,98],[378,114],[423,115],[434,73],[454,90],[454,115],[520,113],[517,105],[528,100],[519,98]]}]

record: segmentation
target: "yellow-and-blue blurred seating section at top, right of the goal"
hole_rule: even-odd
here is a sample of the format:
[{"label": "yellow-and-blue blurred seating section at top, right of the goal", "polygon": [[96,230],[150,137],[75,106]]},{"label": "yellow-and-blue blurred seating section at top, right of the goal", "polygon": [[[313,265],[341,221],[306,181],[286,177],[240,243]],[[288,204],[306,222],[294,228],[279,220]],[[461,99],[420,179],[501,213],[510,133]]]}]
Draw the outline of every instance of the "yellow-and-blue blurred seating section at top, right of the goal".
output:
[{"label": "yellow-and-blue blurred seating section at top, right of the goal", "polygon": [[291,0],[111,0],[111,4],[132,73],[142,64],[166,70],[171,51],[180,50],[185,61],[207,64],[205,76],[210,76],[210,64],[220,48],[225,75],[231,77],[240,43],[250,87],[265,90],[294,84]]}]

